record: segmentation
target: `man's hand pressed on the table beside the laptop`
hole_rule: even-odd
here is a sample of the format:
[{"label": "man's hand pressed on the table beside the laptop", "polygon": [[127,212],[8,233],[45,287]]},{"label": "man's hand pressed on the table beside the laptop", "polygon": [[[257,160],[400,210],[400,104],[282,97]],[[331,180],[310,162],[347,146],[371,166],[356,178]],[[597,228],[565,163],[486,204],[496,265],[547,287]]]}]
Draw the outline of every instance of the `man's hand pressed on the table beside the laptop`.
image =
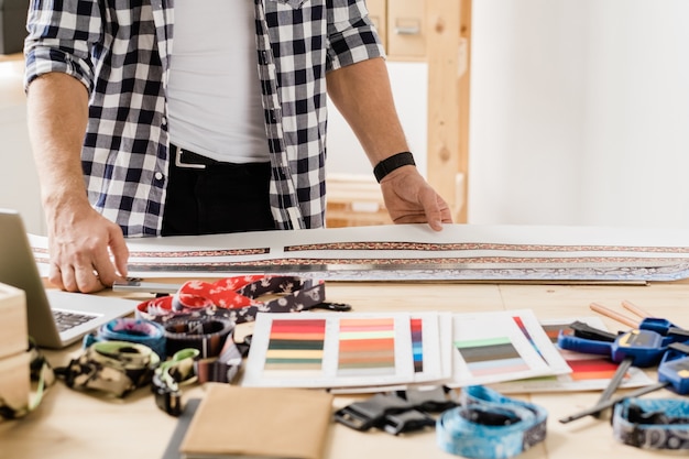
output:
[{"label": "man's hand pressed on the table beside the laptop", "polygon": [[56,287],[92,293],[127,275],[129,249],[122,230],[96,210],[64,209],[53,216],[50,226],[48,281]]}]

